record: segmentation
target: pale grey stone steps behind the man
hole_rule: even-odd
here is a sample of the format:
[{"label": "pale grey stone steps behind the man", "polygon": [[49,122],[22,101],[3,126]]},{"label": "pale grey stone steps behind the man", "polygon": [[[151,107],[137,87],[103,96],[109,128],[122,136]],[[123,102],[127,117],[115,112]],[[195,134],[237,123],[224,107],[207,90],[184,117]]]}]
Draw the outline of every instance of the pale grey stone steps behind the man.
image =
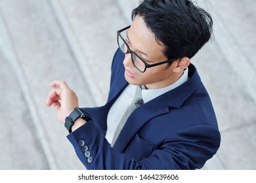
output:
[{"label": "pale grey stone steps behind the man", "polygon": [[[211,95],[221,147],[203,169],[256,169],[256,1],[200,0],[215,38],[192,59]],[[104,105],[116,31],[137,0],[0,0],[0,169],[85,169],[45,106],[55,79],[81,107]]]}]

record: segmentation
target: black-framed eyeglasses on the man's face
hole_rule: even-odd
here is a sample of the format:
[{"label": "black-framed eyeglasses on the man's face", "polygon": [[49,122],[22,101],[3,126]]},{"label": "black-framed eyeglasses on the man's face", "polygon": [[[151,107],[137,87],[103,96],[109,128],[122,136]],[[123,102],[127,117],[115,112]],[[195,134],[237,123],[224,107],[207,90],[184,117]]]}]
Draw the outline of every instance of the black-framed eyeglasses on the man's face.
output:
[{"label": "black-framed eyeglasses on the man's face", "polygon": [[133,62],[133,65],[141,72],[144,73],[146,71],[146,68],[155,67],[164,63],[171,63],[175,61],[175,59],[168,59],[166,61],[160,61],[158,63],[154,64],[148,64],[144,59],[140,58],[135,52],[133,52],[127,42],[125,41],[127,39],[127,29],[129,29],[131,25],[117,31],[117,44],[120,48],[120,50],[123,52],[123,54],[131,54],[131,61]]}]

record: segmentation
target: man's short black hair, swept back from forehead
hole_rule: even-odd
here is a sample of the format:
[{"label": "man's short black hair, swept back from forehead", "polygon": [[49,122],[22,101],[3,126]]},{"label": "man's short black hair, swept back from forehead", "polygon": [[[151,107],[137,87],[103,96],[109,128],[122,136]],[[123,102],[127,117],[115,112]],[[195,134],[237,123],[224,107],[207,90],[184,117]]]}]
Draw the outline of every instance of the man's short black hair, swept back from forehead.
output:
[{"label": "man's short black hair, swept back from forehead", "polygon": [[144,0],[133,10],[132,20],[138,14],[165,45],[168,59],[192,58],[213,31],[211,15],[189,0]]}]

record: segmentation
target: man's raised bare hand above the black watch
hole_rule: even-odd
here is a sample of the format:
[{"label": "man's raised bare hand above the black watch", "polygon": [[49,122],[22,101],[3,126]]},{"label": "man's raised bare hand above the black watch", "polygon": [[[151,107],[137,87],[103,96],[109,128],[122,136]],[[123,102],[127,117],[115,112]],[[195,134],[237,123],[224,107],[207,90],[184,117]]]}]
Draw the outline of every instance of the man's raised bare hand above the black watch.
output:
[{"label": "man's raised bare hand above the black watch", "polygon": [[63,80],[54,80],[50,86],[52,90],[47,96],[45,104],[47,107],[53,106],[58,120],[64,123],[66,116],[70,115],[75,107],[78,107],[77,95]]}]

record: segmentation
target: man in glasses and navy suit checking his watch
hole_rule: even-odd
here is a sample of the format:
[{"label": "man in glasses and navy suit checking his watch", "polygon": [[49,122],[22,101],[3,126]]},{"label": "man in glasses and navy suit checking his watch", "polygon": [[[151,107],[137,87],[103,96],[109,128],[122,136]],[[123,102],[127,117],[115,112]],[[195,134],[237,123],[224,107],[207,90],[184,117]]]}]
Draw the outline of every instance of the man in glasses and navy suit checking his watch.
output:
[{"label": "man in glasses and navy suit checking his watch", "polygon": [[221,139],[190,64],[211,37],[211,16],[187,0],[145,0],[132,20],[117,31],[106,105],[77,108],[75,93],[58,80],[46,104],[87,169],[200,169]]}]

